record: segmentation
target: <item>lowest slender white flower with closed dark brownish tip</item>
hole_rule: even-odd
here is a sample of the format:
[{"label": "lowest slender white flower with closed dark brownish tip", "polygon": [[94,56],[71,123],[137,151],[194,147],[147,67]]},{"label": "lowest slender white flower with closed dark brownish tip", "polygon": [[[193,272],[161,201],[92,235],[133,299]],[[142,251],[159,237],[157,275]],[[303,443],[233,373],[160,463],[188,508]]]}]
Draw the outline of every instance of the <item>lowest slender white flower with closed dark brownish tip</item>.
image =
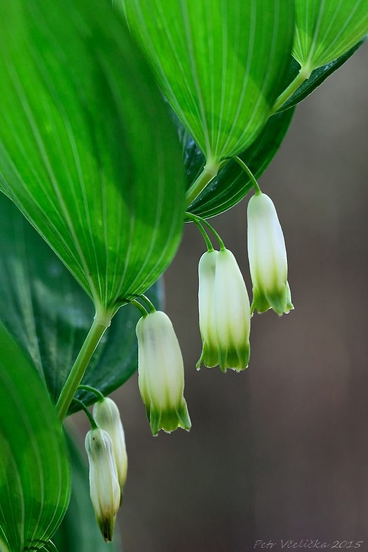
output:
[{"label": "lowest slender white flower with closed dark brownish tip", "polygon": [[86,451],[90,464],[90,499],[99,529],[106,540],[113,540],[116,514],[120,504],[120,486],[111,439],[101,428],[88,431]]}]

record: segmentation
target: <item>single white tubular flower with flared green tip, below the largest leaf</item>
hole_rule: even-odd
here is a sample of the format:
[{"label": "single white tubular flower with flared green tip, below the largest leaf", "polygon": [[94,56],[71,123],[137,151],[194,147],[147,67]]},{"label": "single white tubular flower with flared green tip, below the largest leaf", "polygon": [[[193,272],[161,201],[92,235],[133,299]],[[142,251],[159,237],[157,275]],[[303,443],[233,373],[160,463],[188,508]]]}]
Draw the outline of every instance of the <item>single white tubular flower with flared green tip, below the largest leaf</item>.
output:
[{"label": "single white tubular flower with flared green tip, below the largest leaf", "polygon": [[184,400],[184,364],[170,319],[162,311],[139,319],[138,384],[153,435],[191,428]]}]

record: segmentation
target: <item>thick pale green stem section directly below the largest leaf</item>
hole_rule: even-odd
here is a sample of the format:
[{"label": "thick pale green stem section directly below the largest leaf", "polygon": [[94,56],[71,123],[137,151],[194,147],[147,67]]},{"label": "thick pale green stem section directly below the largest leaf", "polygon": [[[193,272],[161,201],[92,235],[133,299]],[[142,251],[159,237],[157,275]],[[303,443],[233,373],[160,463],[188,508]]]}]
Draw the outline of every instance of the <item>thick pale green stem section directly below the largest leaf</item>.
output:
[{"label": "thick pale green stem section directly below the largest leaf", "polygon": [[99,344],[99,340],[104,335],[104,332],[108,327],[108,324],[106,325],[106,322],[107,321],[105,321],[104,324],[101,324],[101,320],[99,318],[97,319],[97,317],[95,317],[95,319],[93,320],[90,331],[88,332],[84,344],[79,351],[79,355],[77,356],[77,359],[72,366],[70,374],[68,375],[68,379],[66,380],[64,387],[61,390],[56,405],[57,415],[59,416],[59,419],[61,421],[64,420],[64,418],[66,417],[66,413],[68,412],[70,403],[72,402],[77,388],[82,380],[82,377],[86,372],[86,368],[90,362],[93,353],[95,352],[95,348]]}]

